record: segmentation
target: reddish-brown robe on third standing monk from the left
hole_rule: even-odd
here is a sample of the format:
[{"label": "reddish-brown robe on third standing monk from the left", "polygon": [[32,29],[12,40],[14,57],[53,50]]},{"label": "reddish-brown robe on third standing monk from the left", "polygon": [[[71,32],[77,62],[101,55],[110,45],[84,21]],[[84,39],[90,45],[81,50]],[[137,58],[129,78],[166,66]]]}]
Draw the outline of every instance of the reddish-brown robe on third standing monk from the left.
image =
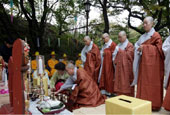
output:
[{"label": "reddish-brown robe on third standing monk from the left", "polygon": [[133,59],[134,47],[132,43],[129,42],[125,50],[119,48],[114,60],[114,91],[118,95],[134,96],[134,87],[130,86],[133,81]]}]

